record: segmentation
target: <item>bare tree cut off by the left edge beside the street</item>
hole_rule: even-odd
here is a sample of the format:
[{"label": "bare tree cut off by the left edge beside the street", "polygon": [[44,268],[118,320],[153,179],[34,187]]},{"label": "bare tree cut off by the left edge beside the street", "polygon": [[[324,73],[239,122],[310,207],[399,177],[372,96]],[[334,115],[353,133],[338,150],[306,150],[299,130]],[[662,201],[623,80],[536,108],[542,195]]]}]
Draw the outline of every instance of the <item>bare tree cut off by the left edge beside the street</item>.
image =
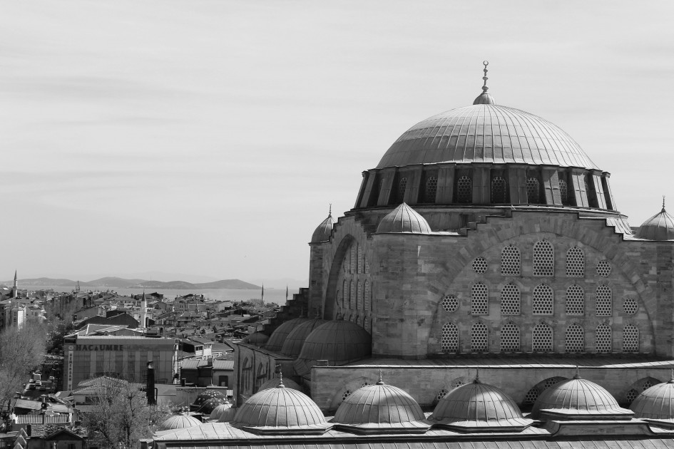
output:
[{"label": "bare tree cut off by the left edge beside the street", "polygon": [[46,326],[35,321],[0,333],[0,408],[24,390],[31,369],[42,363],[45,344]]}]

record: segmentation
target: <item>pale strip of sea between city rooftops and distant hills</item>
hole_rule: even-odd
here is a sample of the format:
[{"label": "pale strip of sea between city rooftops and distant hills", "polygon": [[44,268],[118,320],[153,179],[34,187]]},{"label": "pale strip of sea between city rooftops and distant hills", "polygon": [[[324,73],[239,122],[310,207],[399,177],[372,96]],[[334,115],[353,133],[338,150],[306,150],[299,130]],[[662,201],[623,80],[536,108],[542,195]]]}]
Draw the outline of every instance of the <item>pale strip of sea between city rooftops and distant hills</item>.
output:
[{"label": "pale strip of sea between city rooftops and distant hills", "polygon": [[[75,288],[68,287],[49,287],[49,286],[30,286],[30,285],[21,285],[21,289],[29,290],[45,290],[53,289],[55,292],[66,292],[70,293]],[[91,287],[87,287],[86,290],[91,290]],[[132,294],[141,294],[143,289],[107,289],[101,287],[100,291],[114,291],[121,296],[131,296]],[[81,291],[85,291],[83,287]],[[262,292],[260,290],[240,290],[240,289],[145,289],[145,293],[160,293],[164,295],[164,298],[173,299],[175,296],[184,296],[186,294],[203,294],[204,299],[214,299],[215,301],[249,301],[250,299],[260,299]],[[292,299],[292,294],[297,293],[297,289],[290,289],[288,291],[288,299]],[[284,289],[272,289],[265,287],[265,302],[275,302],[280,306],[285,304],[285,288]]]}]

